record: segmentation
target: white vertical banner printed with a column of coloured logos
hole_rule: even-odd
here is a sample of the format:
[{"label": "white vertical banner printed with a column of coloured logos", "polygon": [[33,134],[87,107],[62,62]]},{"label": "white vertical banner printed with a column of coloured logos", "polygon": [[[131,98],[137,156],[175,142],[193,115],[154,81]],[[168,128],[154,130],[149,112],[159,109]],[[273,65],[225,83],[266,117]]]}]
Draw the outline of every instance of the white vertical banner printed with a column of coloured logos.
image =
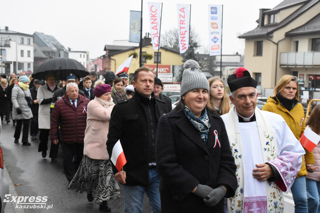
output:
[{"label": "white vertical banner printed with a column of coloured logos", "polygon": [[221,53],[221,5],[208,5],[209,12],[209,55]]}]

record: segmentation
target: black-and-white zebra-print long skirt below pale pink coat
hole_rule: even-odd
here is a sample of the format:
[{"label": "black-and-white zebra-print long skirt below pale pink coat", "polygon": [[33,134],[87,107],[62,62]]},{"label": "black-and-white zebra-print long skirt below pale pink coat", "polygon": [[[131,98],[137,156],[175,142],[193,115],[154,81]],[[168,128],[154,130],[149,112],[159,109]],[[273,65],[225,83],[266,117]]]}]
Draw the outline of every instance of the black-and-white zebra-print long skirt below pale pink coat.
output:
[{"label": "black-and-white zebra-print long skirt below pale pink coat", "polygon": [[98,204],[120,198],[120,186],[113,175],[111,161],[91,159],[86,155],[68,188],[92,194],[93,201]]}]

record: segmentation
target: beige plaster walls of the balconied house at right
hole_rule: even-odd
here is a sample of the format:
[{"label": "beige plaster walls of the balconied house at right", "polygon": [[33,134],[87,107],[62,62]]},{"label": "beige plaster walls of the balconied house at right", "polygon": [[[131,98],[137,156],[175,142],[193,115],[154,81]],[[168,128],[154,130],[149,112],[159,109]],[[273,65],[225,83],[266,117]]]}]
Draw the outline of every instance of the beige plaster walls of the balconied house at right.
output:
[{"label": "beige plaster walls of the balconied house at right", "polygon": [[[284,10],[283,13],[280,14],[282,16],[282,20],[285,18],[284,15],[287,14],[290,15],[290,12],[294,12],[299,6],[296,6],[292,8],[291,10],[287,9]],[[246,39],[245,40],[245,58],[244,58],[244,67],[248,69],[250,74],[252,73],[261,73],[261,86],[263,88],[274,88],[275,84],[279,81],[279,79],[283,75],[292,75],[292,70],[287,67],[280,67],[280,53],[281,52],[291,52],[292,51],[292,37],[285,37],[285,33],[297,28],[303,24],[305,24],[307,21],[312,19],[314,16],[316,16],[320,11],[320,3],[317,3],[312,8],[310,8],[308,11],[301,14],[298,18],[291,21],[288,25],[285,27],[276,30],[273,33],[272,37],[268,37],[270,40],[272,40],[275,43],[278,43],[278,60],[276,65],[276,52],[277,52],[277,45],[271,41],[268,41],[264,37],[261,38],[254,38],[254,39]],[[279,14],[278,14],[279,15]],[[279,20],[279,16],[278,16]],[[299,41],[299,51],[311,51],[311,38],[318,37],[316,35],[310,35],[304,37],[301,44]],[[280,41],[281,40],[281,41]],[[253,56],[254,54],[254,42],[255,41],[263,41],[263,52],[262,56]],[[308,44],[308,46],[302,46],[303,44]],[[303,48],[303,49],[300,49]],[[305,50],[308,48],[308,50]],[[277,66],[277,68],[276,68]],[[260,71],[259,71],[260,70]],[[277,78],[275,79],[275,76]],[[254,77],[254,76],[252,76]]]}]

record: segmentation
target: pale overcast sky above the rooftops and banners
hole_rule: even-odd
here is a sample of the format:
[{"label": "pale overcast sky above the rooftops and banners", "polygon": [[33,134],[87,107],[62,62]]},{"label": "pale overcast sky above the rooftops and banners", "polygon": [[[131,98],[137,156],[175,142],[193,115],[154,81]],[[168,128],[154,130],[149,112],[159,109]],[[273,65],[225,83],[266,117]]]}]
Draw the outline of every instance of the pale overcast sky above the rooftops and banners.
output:
[{"label": "pale overcast sky above the rooftops and banners", "polygon": [[[274,8],[282,0],[162,0],[161,33],[176,28],[177,5],[191,4],[191,26],[200,35],[200,43],[209,45],[208,4],[223,4],[222,54],[241,54],[244,41],[237,38],[257,27],[260,8]],[[10,0],[2,2],[0,28],[33,34],[53,35],[72,51],[89,51],[90,58],[103,55],[105,44],[129,39],[130,10],[140,11],[140,0]],[[148,1],[143,1],[143,36],[150,32]]]}]

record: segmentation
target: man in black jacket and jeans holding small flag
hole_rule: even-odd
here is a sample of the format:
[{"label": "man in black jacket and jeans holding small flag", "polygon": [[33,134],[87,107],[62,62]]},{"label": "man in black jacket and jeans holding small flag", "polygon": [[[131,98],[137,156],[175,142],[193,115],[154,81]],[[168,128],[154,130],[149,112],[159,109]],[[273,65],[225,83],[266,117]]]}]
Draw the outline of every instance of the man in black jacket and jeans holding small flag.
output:
[{"label": "man in black jacket and jeans holding small flag", "polygon": [[143,194],[147,192],[152,211],[160,212],[155,140],[158,120],[167,110],[163,102],[156,101],[154,75],[149,67],[134,72],[132,85],[133,97],[119,101],[112,110],[107,150],[111,158],[112,149],[120,140],[127,159],[123,171],[118,172],[113,166],[116,180],[124,185],[124,211],[142,212]]}]

